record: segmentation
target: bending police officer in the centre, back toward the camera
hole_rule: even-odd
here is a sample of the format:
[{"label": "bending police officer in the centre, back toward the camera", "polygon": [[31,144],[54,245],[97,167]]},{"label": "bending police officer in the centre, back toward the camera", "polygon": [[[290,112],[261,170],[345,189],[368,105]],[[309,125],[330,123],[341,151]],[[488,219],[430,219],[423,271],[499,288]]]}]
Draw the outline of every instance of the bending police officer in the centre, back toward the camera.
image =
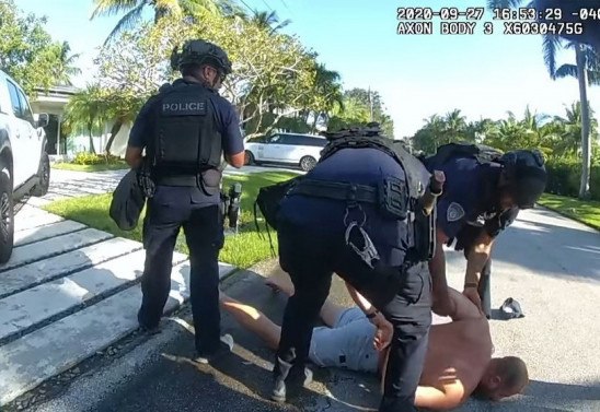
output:
[{"label": "bending police officer in the centre, back toward the camera", "polygon": [[285,309],[272,399],[285,401],[305,384],[312,327],[335,272],[378,327],[376,346],[391,339],[380,411],[414,411],[431,322],[430,174],[379,136],[377,125],[328,138],[316,166],[279,204],[279,262],[295,294]]}]

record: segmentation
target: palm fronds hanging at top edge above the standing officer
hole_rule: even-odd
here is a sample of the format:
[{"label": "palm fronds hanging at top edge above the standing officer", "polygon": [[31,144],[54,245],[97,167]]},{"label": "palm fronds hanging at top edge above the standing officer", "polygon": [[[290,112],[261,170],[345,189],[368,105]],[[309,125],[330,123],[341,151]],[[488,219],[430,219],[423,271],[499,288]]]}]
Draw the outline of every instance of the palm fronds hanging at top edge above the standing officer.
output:
[{"label": "palm fronds hanging at top edge above the standing officer", "polygon": [[232,7],[229,0],[94,0],[94,4],[95,9],[91,19],[125,13],[104,44],[122,31],[135,26],[141,20],[146,7],[154,9],[154,23],[165,15],[194,15],[203,10],[219,12]]}]

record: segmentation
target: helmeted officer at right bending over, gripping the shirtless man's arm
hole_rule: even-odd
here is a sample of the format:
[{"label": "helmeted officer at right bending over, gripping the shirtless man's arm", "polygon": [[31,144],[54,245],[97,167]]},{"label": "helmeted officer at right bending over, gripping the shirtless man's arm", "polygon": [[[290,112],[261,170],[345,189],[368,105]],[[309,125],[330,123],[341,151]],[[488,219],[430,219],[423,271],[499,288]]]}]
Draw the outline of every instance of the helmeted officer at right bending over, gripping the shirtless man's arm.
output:
[{"label": "helmeted officer at right bending over, gripping the shirtless man's arm", "polygon": [[[543,193],[544,160],[540,152],[529,150],[508,152],[494,161],[468,153],[439,154],[425,161],[429,170],[442,170],[447,179],[438,202],[437,243],[450,245],[457,239],[455,248],[466,257],[463,293],[489,316],[487,282],[494,240],[517,219],[519,210],[533,208]],[[436,249],[429,270],[434,279],[446,279],[442,247]],[[443,307],[443,303],[439,305]]]}]

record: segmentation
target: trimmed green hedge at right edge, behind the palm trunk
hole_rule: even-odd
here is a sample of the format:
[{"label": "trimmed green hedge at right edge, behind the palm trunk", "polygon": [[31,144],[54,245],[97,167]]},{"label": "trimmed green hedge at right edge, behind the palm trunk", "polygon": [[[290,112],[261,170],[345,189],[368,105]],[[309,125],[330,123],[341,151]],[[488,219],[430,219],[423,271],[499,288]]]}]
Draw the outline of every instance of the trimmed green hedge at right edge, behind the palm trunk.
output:
[{"label": "trimmed green hedge at right edge, behind the palm trunk", "polygon": [[[576,198],[579,195],[581,163],[575,160],[557,160],[546,163],[549,193]],[[596,164],[590,170],[590,195],[600,200],[600,165]]]}]

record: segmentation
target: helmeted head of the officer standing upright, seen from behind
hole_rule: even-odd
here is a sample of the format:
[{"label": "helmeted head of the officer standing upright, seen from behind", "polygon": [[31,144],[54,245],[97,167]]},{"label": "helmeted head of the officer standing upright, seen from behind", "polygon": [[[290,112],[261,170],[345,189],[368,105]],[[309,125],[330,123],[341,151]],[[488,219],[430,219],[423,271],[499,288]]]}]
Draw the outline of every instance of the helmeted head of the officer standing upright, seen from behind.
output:
[{"label": "helmeted head of the officer standing upright, seen from behind", "polygon": [[171,67],[183,76],[193,76],[208,87],[219,90],[226,76],[231,73],[231,61],[219,46],[205,40],[188,40],[182,51],[171,54]]}]

